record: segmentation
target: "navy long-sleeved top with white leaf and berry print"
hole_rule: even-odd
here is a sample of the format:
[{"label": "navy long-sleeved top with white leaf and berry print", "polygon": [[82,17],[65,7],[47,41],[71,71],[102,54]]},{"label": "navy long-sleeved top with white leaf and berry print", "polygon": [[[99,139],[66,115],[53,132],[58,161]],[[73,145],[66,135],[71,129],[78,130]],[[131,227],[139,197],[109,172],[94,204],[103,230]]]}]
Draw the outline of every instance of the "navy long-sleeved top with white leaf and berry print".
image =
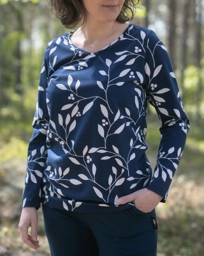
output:
[{"label": "navy long-sleeved top with white leaf and berry print", "polygon": [[[168,53],[156,34],[129,24],[98,52],[71,31],[47,45],[29,143],[23,207],[120,211],[120,196],[148,188],[166,201],[189,130]],[[145,151],[147,102],[161,120],[157,165]]]}]

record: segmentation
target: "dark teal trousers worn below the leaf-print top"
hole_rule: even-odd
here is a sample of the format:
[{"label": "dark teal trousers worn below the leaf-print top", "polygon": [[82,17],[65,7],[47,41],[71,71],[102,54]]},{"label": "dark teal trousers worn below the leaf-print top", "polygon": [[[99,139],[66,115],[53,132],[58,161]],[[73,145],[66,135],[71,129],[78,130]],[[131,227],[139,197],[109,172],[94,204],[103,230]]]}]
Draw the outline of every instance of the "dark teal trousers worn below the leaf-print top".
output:
[{"label": "dark teal trousers worn below the leaf-print top", "polygon": [[43,205],[51,256],[156,256],[155,211],[69,212]]}]

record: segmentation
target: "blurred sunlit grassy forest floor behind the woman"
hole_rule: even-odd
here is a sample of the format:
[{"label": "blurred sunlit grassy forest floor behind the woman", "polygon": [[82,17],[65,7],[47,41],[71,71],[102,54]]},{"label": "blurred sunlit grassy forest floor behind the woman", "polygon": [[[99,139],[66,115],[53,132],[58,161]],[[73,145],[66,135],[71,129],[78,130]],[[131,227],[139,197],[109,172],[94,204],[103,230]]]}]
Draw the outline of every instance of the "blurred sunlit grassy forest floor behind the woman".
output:
[{"label": "blurred sunlit grassy forest floor behind the woman", "polygon": [[[160,140],[157,123],[150,122],[149,160],[155,165],[157,143]],[[0,255],[50,255],[39,212],[38,253],[22,243],[18,232],[21,196],[24,187],[27,143],[17,138],[2,144],[0,155]],[[203,256],[204,241],[204,140],[193,136],[187,140],[179,169],[171,184],[166,204],[157,207],[159,226],[157,256]],[[15,177],[15,179],[14,179]]]}]

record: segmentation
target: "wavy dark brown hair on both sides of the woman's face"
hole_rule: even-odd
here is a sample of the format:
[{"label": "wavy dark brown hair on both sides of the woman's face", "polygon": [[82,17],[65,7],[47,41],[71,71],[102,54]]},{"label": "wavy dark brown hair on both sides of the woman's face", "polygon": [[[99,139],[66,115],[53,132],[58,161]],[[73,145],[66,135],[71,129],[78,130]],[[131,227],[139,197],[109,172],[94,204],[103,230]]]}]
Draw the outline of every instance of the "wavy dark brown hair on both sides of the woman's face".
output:
[{"label": "wavy dark brown hair on both sides of the woman's face", "polygon": [[[136,5],[140,0],[125,0],[122,10],[117,17],[117,21],[124,23],[134,18]],[[48,0],[52,13],[61,20],[66,28],[74,28],[84,17],[86,22],[85,7],[82,0]],[[82,25],[83,25],[82,24]]]}]

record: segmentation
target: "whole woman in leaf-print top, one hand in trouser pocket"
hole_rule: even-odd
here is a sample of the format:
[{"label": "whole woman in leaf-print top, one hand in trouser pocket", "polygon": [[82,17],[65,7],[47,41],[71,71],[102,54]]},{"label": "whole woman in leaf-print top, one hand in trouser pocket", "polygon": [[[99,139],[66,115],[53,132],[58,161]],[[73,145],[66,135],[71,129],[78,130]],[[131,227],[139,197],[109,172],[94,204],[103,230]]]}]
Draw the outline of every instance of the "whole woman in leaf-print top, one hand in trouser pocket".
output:
[{"label": "whole woman in leaf-print top, one hand in trouser pocket", "polygon": [[[39,247],[42,202],[52,256],[156,255],[155,207],[166,202],[189,129],[166,48],[153,31],[126,23],[133,0],[50,4],[67,28],[82,24],[45,51],[22,239]],[[147,100],[161,120],[154,176],[145,155]]]}]

